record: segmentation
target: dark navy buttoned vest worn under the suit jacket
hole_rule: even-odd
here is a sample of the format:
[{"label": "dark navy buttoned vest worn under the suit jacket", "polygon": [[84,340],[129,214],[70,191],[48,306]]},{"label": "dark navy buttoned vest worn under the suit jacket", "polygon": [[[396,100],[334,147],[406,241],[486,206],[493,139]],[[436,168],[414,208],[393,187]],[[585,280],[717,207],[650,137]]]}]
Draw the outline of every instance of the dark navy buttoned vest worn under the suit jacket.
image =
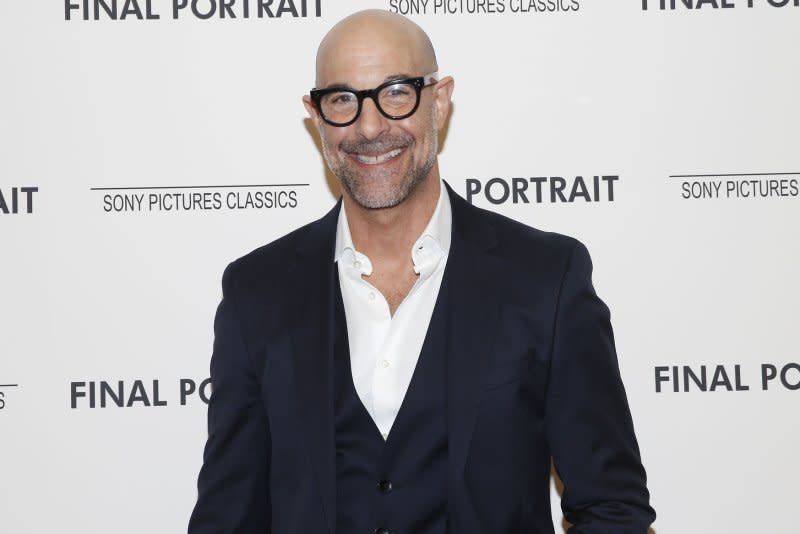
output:
[{"label": "dark navy buttoned vest worn under the suit jacket", "polygon": [[447,274],[387,441],[361,403],[336,287],[336,534],[444,534],[447,521]]}]

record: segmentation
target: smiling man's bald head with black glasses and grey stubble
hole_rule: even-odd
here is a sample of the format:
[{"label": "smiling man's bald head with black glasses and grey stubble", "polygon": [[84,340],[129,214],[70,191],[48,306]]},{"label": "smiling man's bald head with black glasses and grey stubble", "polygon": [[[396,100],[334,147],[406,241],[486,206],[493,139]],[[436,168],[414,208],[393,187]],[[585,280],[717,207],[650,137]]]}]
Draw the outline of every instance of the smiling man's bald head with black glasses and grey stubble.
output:
[{"label": "smiling man's bald head with black glasses and grey stubble", "polygon": [[453,92],[453,79],[437,71],[422,28],[388,11],[350,15],[322,39],[316,88],[323,91],[303,95],[303,105],[347,210],[422,214],[420,232],[430,219],[440,192],[438,134]]}]

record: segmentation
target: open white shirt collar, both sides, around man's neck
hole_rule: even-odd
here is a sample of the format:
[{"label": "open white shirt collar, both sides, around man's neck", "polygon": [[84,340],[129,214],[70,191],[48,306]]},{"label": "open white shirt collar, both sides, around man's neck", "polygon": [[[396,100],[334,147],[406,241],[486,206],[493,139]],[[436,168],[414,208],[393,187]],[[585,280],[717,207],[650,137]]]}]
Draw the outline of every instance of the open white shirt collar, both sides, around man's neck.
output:
[{"label": "open white shirt collar, both sides, around man's neck", "polygon": [[[444,182],[439,181],[439,201],[431,215],[430,221],[422,234],[411,248],[411,261],[414,271],[426,278],[436,269],[439,262],[447,257],[450,251],[450,234],[453,228],[453,214],[450,206],[450,197]],[[336,254],[334,261],[341,261],[344,266],[351,267],[358,275],[369,276],[372,274],[372,263],[369,258],[356,250],[353,237],[350,234],[350,225],[347,222],[347,212],[344,204],[339,210],[339,219],[336,223]]]}]

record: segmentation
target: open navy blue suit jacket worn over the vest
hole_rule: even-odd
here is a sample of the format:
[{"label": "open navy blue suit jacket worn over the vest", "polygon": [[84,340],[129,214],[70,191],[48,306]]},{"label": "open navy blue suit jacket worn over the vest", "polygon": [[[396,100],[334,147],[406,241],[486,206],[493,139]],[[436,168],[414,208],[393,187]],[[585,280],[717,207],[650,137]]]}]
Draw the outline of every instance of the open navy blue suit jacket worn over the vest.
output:
[{"label": "open navy blue suit jacket worn over the vest", "polygon": [[[655,513],[588,252],[448,190],[448,532],[552,533],[552,457],[570,532],[646,533]],[[190,534],[334,534],[340,205],[225,271]]]}]

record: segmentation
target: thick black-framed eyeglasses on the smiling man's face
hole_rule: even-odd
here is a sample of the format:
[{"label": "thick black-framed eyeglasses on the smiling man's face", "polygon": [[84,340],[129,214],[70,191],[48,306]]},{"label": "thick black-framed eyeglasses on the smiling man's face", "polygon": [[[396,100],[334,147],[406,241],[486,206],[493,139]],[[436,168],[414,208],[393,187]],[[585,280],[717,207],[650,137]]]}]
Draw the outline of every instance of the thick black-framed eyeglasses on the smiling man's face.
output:
[{"label": "thick black-framed eyeglasses on the smiling man's face", "polygon": [[312,89],[311,100],[322,120],[331,126],[349,126],[361,115],[365,98],[371,98],[381,115],[401,120],[410,117],[419,107],[419,94],[425,87],[437,83],[439,73],[416,78],[390,80],[375,89],[355,91],[345,87]]}]

